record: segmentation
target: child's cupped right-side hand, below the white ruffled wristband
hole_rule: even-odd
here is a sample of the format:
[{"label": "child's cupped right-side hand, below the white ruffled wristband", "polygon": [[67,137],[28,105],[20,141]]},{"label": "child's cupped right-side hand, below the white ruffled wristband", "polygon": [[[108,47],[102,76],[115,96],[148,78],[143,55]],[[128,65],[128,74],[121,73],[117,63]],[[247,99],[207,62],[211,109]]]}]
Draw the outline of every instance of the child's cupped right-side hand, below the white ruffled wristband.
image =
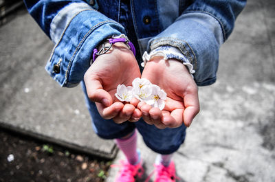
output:
[{"label": "child's cupped right-side hand, below the white ruffled wristband", "polygon": [[162,111],[144,102],[138,104],[144,121],[155,124],[157,128],[174,128],[183,123],[190,126],[199,113],[199,98],[197,84],[188,69],[178,60],[163,60],[159,56],[146,63],[142,78],[147,78],[167,93]]}]

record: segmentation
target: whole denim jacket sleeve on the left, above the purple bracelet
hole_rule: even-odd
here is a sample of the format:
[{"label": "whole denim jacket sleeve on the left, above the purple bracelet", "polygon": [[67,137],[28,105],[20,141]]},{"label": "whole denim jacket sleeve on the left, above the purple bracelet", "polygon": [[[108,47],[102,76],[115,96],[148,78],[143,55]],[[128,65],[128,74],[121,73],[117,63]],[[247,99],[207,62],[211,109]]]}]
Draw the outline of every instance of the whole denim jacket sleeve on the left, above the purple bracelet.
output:
[{"label": "whole denim jacket sleeve on the left, above the purple bracelet", "polygon": [[85,1],[25,0],[28,11],[55,43],[45,69],[62,87],[75,87],[89,68],[92,50],[124,27]]}]

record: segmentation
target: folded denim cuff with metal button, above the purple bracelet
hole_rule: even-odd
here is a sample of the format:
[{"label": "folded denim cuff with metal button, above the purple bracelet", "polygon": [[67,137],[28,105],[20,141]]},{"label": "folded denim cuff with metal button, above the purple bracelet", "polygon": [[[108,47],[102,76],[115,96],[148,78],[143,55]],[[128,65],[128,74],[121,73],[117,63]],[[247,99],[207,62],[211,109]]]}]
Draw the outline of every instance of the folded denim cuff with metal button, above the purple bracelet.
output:
[{"label": "folded denim cuff with metal button, above the purple bracelet", "polygon": [[84,8],[67,21],[45,69],[62,87],[75,87],[89,68],[94,48],[107,37],[124,32],[119,23]]}]

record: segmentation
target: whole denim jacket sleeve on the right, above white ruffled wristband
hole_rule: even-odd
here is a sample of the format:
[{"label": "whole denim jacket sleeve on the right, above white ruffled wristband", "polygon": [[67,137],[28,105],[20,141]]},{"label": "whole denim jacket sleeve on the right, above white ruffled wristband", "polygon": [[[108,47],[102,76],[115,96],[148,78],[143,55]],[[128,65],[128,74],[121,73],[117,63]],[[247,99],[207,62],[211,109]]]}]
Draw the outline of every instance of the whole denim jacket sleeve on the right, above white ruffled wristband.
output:
[{"label": "whole denim jacket sleeve on the right, above white ruffled wristband", "polygon": [[148,51],[162,45],[177,47],[193,65],[197,85],[212,84],[216,80],[219,47],[232,32],[245,3],[245,0],[197,0],[183,4],[175,22],[151,38]]}]

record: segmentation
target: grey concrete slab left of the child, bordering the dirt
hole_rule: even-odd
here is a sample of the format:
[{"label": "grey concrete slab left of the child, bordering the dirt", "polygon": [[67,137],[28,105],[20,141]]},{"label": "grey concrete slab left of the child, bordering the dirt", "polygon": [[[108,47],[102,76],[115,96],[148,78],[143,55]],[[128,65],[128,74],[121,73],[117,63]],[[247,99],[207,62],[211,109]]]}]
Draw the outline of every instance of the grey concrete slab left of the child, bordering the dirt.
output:
[{"label": "grey concrete slab left of the child, bordering the dirt", "polygon": [[0,27],[0,126],[113,159],[113,141],[91,132],[80,85],[61,88],[44,67],[53,43],[25,8]]}]

